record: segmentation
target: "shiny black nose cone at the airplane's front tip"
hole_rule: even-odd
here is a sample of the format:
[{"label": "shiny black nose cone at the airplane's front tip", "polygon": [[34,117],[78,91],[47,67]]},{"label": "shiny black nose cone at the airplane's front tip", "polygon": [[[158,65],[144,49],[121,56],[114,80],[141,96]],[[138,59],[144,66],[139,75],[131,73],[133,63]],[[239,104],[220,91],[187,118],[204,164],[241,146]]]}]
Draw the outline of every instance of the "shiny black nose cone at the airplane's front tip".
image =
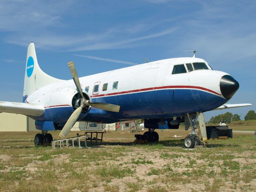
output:
[{"label": "shiny black nose cone at the airplane's front tip", "polygon": [[232,98],[239,88],[239,83],[230,75],[224,75],[220,79],[220,91],[226,99]]}]

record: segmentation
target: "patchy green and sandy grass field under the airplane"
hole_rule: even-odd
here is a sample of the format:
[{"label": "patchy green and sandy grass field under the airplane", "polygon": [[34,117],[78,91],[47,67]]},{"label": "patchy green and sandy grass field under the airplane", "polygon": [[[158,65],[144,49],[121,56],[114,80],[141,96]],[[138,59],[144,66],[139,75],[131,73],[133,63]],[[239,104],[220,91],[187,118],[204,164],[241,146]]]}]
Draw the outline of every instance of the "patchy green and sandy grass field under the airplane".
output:
[{"label": "patchy green and sandy grass field under the airplane", "polygon": [[158,133],[154,144],[134,145],[134,133],[113,131],[101,146],[52,150],[34,147],[36,132],[0,132],[0,191],[256,191],[254,134],[186,150],[187,132]]}]

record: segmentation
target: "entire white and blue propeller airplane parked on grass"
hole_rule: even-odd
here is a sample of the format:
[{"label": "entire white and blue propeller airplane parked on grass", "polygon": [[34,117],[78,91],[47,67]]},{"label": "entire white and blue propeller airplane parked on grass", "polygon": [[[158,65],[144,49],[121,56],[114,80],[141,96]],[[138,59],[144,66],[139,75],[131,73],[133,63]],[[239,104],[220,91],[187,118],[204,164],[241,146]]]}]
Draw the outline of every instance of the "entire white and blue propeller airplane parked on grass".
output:
[{"label": "entire white and blue propeller airplane parked on grass", "polygon": [[[251,106],[225,104],[239,88],[229,74],[213,70],[203,59],[170,58],[78,78],[74,62],[69,62],[72,79],[60,80],[44,73],[37,61],[34,43],[28,45],[23,102],[0,102],[0,112],[23,114],[35,120],[35,145],[51,143],[48,131],[61,130],[65,138],[77,121],[102,123],[144,120],[144,136],[158,141],[154,130],[166,127],[191,133],[186,148],[200,142],[195,132],[197,120],[202,140],[207,140],[203,112]],[[81,73],[81,72],[80,72]]]}]

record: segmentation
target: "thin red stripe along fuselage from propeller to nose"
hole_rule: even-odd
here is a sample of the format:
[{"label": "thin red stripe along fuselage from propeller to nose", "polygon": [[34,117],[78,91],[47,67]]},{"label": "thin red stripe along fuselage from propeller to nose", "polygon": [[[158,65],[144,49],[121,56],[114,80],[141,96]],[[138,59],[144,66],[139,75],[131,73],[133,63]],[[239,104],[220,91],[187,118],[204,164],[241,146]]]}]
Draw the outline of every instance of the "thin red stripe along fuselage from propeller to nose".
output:
[{"label": "thin red stripe along fuselage from propeller to nose", "polygon": [[174,86],[162,86],[162,87],[151,87],[151,88],[144,88],[144,89],[136,89],[136,90],[130,90],[130,91],[122,91],[122,92],[116,92],[116,93],[108,93],[108,94],[100,94],[100,95],[92,95],[91,98],[94,97],[102,97],[102,96],[111,96],[111,95],[117,95],[117,94],[127,94],[127,93],[134,93],[134,92],[141,92],[141,91],[149,91],[149,90],[157,90],[157,89],[172,89],[172,88],[192,88],[192,89],[200,89],[204,91],[208,91],[211,93],[214,93],[216,95],[219,95],[217,92],[204,88],[199,86],[187,86],[187,85],[174,85]]}]

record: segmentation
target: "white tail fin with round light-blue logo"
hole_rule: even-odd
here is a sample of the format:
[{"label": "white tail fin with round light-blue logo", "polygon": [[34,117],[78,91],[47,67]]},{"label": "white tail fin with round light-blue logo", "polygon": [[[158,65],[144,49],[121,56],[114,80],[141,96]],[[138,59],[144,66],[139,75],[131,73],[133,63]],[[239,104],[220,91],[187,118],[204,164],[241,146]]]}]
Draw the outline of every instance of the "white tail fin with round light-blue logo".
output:
[{"label": "white tail fin with round light-blue logo", "polygon": [[24,90],[23,90],[23,102],[26,100],[28,95],[37,89],[52,84],[60,82],[62,80],[49,76],[44,73],[37,62],[36,50],[34,43],[31,42],[28,45],[26,71],[24,79]]}]

